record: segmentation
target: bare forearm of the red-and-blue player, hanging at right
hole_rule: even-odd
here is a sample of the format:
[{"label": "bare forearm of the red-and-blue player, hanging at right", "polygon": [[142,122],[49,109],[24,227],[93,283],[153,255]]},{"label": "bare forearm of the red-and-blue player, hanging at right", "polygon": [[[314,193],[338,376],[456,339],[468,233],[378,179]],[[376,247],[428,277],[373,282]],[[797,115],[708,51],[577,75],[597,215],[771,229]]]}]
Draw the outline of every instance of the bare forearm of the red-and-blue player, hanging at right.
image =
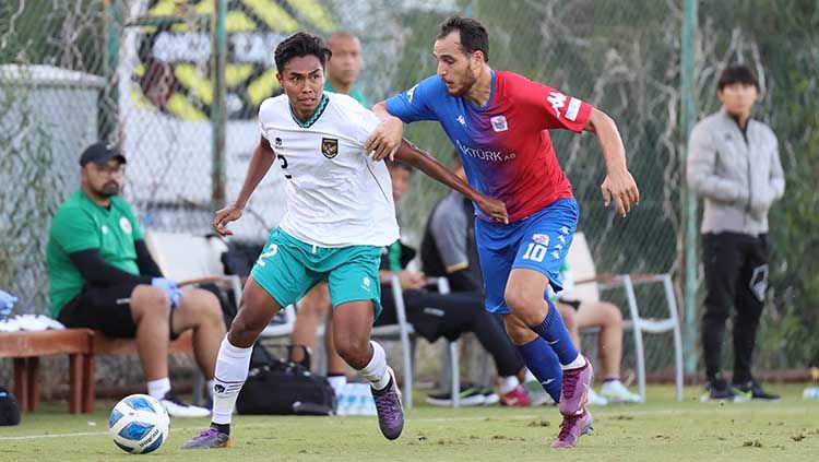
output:
[{"label": "bare forearm of the red-and-blue player, hanging at right", "polygon": [[631,205],[640,202],[640,191],[626,166],[626,149],[617,125],[602,110],[592,108],[584,130],[597,137],[606,161],[606,178],[600,187],[603,202],[608,206],[614,201],[617,213],[626,216]]}]

